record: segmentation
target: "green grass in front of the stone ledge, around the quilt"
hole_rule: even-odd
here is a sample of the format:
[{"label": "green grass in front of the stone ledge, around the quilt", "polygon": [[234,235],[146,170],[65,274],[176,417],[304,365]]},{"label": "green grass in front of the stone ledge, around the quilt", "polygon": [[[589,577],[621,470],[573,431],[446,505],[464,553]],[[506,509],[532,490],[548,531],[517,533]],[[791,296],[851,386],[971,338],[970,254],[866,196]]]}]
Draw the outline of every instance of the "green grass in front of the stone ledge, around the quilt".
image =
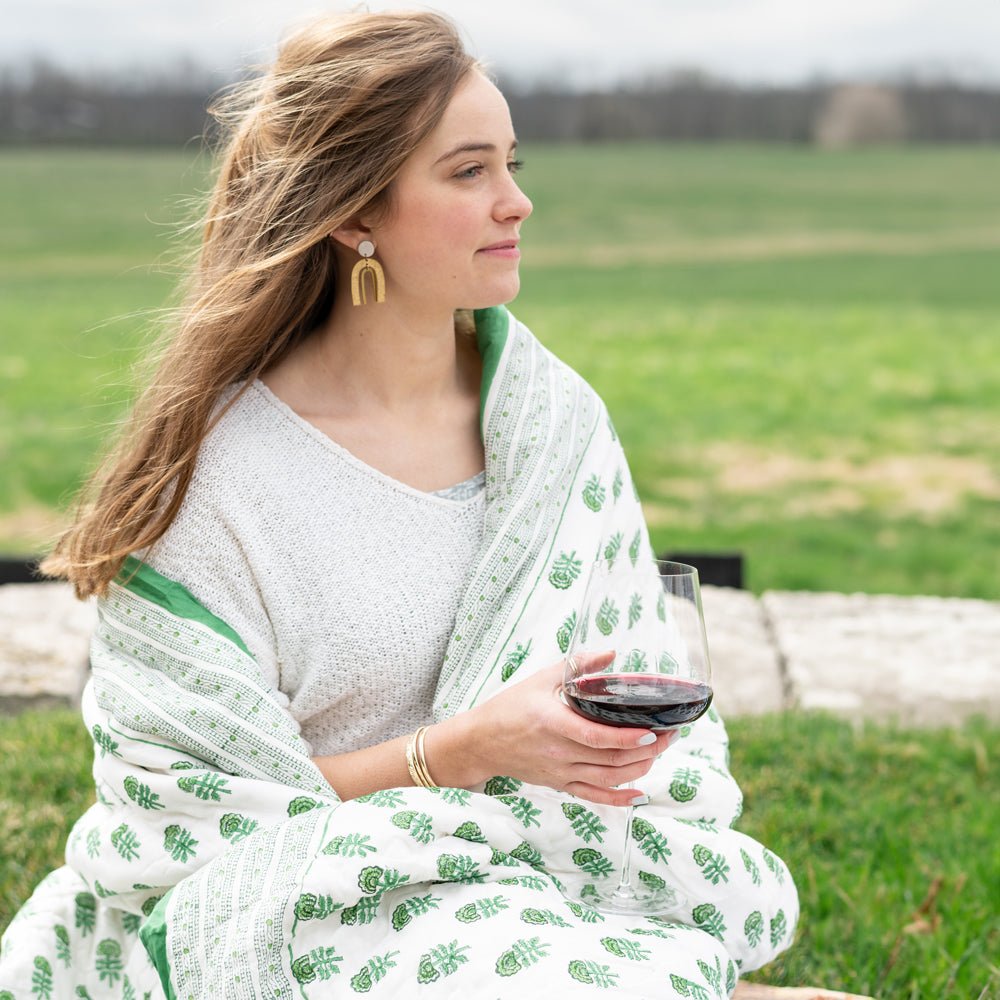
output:
[{"label": "green grass in front of the stone ledge, around the quilt", "polygon": [[[995,728],[784,715],[729,729],[738,825],[787,861],[803,911],[795,945],[750,978],[882,1000],[1000,996]],[[93,801],[92,750],[68,711],[0,719],[0,928],[62,863]]]}]

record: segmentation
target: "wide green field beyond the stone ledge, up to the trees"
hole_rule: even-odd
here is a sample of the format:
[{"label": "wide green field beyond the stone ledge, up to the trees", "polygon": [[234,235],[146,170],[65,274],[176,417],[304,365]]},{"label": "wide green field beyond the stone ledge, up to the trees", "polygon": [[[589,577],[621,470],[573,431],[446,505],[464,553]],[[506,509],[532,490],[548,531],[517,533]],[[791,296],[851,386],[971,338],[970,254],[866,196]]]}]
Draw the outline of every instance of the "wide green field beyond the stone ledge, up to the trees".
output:
[{"label": "wide green field beyond the stone ledge, up to the trees", "polygon": [[[765,588],[996,598],[1000,149],[524,150],[515,311],[608,402],[658,549]],[[189,153],[4,151],[0,550],[128,396]]]}]

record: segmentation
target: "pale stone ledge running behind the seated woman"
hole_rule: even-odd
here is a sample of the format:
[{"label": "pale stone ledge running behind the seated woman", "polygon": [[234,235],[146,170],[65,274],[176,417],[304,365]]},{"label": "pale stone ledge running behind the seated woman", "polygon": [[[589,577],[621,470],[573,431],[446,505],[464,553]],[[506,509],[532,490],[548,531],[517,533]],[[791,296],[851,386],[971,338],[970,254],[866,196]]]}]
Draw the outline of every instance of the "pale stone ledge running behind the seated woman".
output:
[{"label": "pale stone ledge running behind the seated woman", "polygon": [[[1000,602],[703,588],[724,717],[786,708],[906,725],[1000,721]],[[68,584],[0,586],[0,712],[76,705],[93,602]]]}]

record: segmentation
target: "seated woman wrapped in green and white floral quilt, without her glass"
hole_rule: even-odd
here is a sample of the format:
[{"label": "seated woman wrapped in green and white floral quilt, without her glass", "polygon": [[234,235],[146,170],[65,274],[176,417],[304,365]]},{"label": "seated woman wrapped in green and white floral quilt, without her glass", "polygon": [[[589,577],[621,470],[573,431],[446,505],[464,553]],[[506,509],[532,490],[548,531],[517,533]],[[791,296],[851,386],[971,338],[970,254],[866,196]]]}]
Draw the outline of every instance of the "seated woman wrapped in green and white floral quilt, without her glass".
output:
[{"label": "seated woman wrapped in green and white floral quilt, without her glass", "polygon": [[[0,990],[727,995],[797,901],[729,828],[721,722],[664,752],[556,697],[585,561],[650,549],[603,404],[502,305],[502,96],[441,17],[361,14],[231,117],[177,333],[46,564],[100,598],[98,801]],[[630,798],[683,922],[558,891]]]}]

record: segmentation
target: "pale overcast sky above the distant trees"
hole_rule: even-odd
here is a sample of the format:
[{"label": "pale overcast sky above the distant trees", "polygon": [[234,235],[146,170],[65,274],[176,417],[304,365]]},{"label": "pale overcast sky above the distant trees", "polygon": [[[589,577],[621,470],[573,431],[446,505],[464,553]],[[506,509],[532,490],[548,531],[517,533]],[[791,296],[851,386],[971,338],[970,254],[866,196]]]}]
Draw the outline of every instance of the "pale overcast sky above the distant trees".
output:
[{"label": "pale overcast sky above the distant trees", "polygon": [[[0,61],[159,67],[191,57],[229,76],[283,30],[349,9],[312,0],[0,0]],[[495,71],[605,83],[697,67],[792,82],[900,71],[1000,81],[1000,0],[440,0]]]}]

